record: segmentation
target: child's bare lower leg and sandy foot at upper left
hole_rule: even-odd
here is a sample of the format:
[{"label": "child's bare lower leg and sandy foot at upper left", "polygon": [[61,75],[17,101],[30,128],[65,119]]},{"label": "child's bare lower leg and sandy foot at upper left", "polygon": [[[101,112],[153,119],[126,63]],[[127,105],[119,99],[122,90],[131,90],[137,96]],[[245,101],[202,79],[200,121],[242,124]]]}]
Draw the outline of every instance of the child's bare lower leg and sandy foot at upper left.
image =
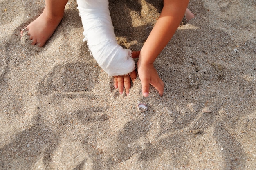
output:
[{"label": "child's bare lower leg and sandy foot at upper left", "polygon": [[25,31],[28,31],[27,35],[32,40],[32,45],[38,45],[38,47],[45,45],[63,18],[67,1],[45,0],[43,13],[23,29],[20,35],[22,36]]}]

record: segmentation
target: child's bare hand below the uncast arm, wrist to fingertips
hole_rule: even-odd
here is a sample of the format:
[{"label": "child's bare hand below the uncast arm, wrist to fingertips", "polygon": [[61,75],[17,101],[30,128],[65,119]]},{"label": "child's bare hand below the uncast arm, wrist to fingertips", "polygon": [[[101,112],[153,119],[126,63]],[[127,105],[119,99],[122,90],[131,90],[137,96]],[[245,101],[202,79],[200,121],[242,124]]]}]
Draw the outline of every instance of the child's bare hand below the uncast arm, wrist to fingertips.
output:
[{"label": "child's bare hand below the uncast arm, wrist to fingertips", "polygon": [[142,94],[148,97],[149,84],[151,84],[159,92],[160,96],[164,93],[164,82],[159,78],[157,70],[153,63],[142,63],[138,61],[138,74],[142,85]]}]

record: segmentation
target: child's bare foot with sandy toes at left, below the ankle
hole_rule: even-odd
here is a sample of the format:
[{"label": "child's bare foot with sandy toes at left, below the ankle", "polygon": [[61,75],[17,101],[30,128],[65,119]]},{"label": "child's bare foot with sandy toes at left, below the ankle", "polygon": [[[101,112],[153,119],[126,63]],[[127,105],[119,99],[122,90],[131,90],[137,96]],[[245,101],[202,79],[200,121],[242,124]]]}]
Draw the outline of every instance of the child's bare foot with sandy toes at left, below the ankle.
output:
[{"label": "child's bare foot with sandy toes at left, below the ankle", "polygon": [[58,27],[62,18],[63,15],[58,17],[47,15],[46,10],[44,10],[36,20],[31,22],[25,29],[22,29],[20,35],[22,36],[25,31],[28,31],[27,35],[32,40],[31,45],[43,47]]}]

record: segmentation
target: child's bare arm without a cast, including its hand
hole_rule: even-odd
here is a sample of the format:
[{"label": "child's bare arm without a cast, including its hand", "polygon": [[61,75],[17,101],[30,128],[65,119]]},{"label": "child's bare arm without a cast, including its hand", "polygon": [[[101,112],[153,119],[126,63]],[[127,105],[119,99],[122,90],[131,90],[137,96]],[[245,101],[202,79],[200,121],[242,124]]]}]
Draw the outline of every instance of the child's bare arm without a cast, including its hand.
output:
[{"label": "child's bare arm without a cast, including its hand", "polygon": [[141,49],[138,74],[145,97],[148,96],[149,84],[157,89],[160,96],[163,95],[164,83],[159,78],[153,63],[179,27],[188,3],[189,0],[164,0],[161,15]]}]

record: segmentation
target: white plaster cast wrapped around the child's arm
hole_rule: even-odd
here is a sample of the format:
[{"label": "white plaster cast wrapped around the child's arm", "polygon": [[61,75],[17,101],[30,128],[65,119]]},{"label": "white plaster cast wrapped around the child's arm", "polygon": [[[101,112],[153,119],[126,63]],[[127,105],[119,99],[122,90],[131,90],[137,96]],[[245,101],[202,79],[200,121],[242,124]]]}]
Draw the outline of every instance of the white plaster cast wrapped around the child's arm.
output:
[{"label": "white plaster cast wrapped around the child's arm", "polygon": [[135,70],[132,51],[117,44],[108,0],[77,0],[83,24],[84,41],[108,76],[125,75]]}]

